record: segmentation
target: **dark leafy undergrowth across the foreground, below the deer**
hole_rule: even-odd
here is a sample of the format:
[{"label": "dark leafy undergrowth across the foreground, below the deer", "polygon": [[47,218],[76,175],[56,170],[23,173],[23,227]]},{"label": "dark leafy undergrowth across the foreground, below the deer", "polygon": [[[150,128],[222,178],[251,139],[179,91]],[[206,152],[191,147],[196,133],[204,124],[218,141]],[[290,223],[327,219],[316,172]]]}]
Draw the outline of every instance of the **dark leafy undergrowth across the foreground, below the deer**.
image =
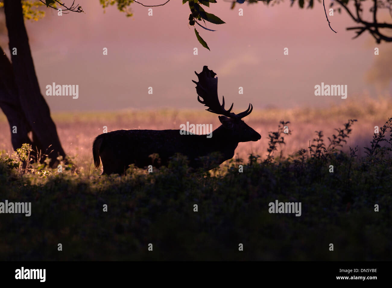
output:
[{"label": "dark leafy undergrowth across the foreground, below the deer", "polygon": [[[20,174],[20,163],[12,164],[16,154],[18,161],[28,159],[25,145],[0,157],[2,199],[32,203],[30,217],[2,214],[0,259],[389,260],[392,158],[374,158],[388,131],[381,129],[374,152],[358,159],[355,149],[350,155],[338,149],[354,121],[336,129],[329,145],[317,132],[309,153],[275,159],[273,151],[285,143],[288,122],[281,121],[269,133],[268,161],[252,154],[247,163],[232,159],[209,172],[192,172],[177,155],[152,173],[132,165],[123,177],[47,168],[44,178],[32,167]],[[276,199],[301,202],[302,215],[270,214]],[[56,250],[58,243],[65,253]],[[330,252],[329,243],[339,253]]]}]

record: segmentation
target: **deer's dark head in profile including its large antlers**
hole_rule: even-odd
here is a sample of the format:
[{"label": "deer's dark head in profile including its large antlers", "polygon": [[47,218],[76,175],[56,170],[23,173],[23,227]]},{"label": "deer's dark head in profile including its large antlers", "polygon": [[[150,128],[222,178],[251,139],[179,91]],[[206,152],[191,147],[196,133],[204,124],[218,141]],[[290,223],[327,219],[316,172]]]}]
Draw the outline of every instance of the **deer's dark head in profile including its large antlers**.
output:
[{"label": "deer's dark head in profile including its large antlers", "polygon": [[[218,78],[215,77],[216,73],[209,70],[207,66],[204,66],[203,71],[201,71],[200,74],[197,74],[196,71],[195,74],[198,76],[199,82],[194,80],[192,80],[192,82],[196,84],[198,101],[208,107],[208,109],[206,109],[207,111],[223,115],[218,116],[218,118],[222,123],[222,126],[227,130],[229,136],[232,139],[236,139],[238,142],[260,140],[260,134],[241,120],[252,112],[252,104],[249,104],[247,110],[238,114],[230,112],[234,103],[231,104],[229,110],[225,110],[225,97],[223,97],[222,105],[218,98]],[[200,97],[203,98],[203,101]]]}]

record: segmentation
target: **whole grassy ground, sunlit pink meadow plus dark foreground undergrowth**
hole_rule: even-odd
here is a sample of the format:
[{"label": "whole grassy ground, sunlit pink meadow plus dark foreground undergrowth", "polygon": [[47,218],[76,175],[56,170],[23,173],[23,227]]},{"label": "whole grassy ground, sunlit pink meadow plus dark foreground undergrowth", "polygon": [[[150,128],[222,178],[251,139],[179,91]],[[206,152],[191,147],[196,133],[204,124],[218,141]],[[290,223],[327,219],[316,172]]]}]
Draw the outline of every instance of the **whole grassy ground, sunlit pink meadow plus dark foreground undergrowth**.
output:
[{"label": "whole grassy ground, sunlit pink meadow plus dark foreground undergrowth", "polygon": [[[169,167],[153,173],[131,167],[123,177],[93,170],[91,144],[103,126],[108,131],[179,129],[189,121],[216,128],[216,115],[174,110],[54,114],[79,173],[72,167],[57,173],[38,164],[25,173],[15,157],[0,157],[1,201],[32,203],[30,217],[1,215],[0,260],[390,260],[390,123],[386,141],[379,142],[384,148],[376,145],[380,138],[372,138],[374,126],[383,127],[392,116],[392,101],[345,103],[254,110],[245,121],[262,139],[242,143],[236,150],[242,160],[211,172],[190,172],[178,156]],[[278,130],[281,120],[290,121],[290,135]],[[11,150],[7,123],[0,121],[1,148]],[[324,141],[312,141],[316,130],[324,132]],[[274,144],[269,131],[279,131],[285,144]],[[347,145],[328,147],[332,134]],[[316,145],[311,151],[309,141]],[[277,151],[267,157],[271,143]],[[350,151],[357,145],[357,152]],[[23,158],[24,151],[18,153]],[[276,200],[301,202],[301,216],[269,213],[269,203]]]}]

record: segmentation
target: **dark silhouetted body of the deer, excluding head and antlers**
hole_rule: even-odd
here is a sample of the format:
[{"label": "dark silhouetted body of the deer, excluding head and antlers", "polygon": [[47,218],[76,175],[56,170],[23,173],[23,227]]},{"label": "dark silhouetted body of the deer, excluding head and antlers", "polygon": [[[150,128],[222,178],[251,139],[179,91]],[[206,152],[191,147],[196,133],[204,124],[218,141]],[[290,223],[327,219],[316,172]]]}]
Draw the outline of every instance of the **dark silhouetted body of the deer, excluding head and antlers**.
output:
[{"label": "dark silhouetted body of the deer, excluding head and antlers", "polygon": [[[180,130],[117,130],[103,133],[96,137],[93,144],[95,167],[102,160],[103,174],[123,174],[131,163],[144,168],[167,166],[170,157],[176,153],[187,156],[192,168],[206,167],[208,170],[219,166],[234,156],[238,142],[227,137],[223,125],[213,131],[214,137],[206,135],[180,135]],[[206,166],[200,159],[219,152],[213,166]],[[151,154],[159,155],[158,161],[153,161]]]}]

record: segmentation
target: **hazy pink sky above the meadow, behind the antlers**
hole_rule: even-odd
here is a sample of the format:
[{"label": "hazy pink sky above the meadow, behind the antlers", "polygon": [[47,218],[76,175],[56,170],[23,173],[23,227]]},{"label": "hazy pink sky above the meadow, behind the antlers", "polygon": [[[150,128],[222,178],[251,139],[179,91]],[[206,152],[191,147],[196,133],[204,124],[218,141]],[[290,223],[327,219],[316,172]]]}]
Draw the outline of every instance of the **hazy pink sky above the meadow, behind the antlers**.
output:
[{"label": "hazy pink sky above the meadow, behind the antlers", "polygon": [[[374,47],[382,53],[388,45],[376,44],[368,35],[352,40],[355,33],[345,28],[355,23],[336,10],[329,16],[338,31],[333,33],[319,2],[314,9],[299,9],[297,2],[290,7],[286,1],[274,7],[237,4],[230,10],[230,3],[218,0],[205,10],[226,24],[207,22],[216,32],[196,26],[211,52],[189,29],[189,7],[179,0],[154,7],[153,16],[134,3],[132,18],[116,7],[103,13],[98,0],[80,0],[80,5],[86,14],[57,16],[47,9],[43,20],[26,21],[41,91],[52,111],[203,109],[191,82],[203,65],[217,73],[218,94],[234,102],[234,112],[245,110],[249,102],[256,109],[341,103],[345,100],[339,96],[315,96],[314,86],[343,84],[347,98],[358,98],[363,91],[376,96],[364,75],[377,57]],[[244,16],[238,15],[239,8]],[[194,47],[198,55],[193,55]],[[46,96],[45,86],[53,82],[79,85],[79,98]],[[148,94],[150,86],[153,94]],[[243,95],[238,94],[240,86]]]}]

